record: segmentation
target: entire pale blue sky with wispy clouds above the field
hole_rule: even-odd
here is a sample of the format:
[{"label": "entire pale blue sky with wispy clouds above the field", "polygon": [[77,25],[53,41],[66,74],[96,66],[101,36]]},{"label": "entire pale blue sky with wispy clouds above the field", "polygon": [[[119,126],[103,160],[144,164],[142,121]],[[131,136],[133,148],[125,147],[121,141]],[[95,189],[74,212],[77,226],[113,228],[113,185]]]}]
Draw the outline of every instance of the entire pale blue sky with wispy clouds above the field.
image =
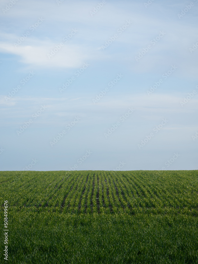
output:
[{"label": "entire pale blue sky with wispy clouds above the field", "polygon": [[1,0],[1,171],[195,170],[198,0]]}]

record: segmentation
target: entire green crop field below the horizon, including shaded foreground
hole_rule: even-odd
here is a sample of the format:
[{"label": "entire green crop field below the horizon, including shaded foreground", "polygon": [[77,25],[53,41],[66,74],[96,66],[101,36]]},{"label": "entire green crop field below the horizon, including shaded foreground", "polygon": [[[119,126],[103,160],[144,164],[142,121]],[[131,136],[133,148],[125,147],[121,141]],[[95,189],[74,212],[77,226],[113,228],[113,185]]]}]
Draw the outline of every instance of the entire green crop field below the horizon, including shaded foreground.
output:
[{"label": "entire green crop field below the horizon, including shaded foreground", "polygon": [[1,263],[198,263],[197,170],[4,171],[0,196]]}]

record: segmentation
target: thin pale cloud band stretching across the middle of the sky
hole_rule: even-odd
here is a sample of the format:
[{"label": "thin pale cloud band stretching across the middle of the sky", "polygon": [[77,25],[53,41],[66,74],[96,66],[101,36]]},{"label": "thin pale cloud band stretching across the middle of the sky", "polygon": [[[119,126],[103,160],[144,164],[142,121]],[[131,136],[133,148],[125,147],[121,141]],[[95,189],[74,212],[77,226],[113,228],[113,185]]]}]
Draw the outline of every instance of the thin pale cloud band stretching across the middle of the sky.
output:
[{"label": "thin pale cloud band stretching across the middle of the sky", "polygon": [[[100,112],[101,115],[107,112],[121,113],[133,107],[136,112],[142,114],[148,114],[149,116],[158,114],[183,114],[183,113],[195,113],[198,110],[198,99],[192,98],[185,106],[181,106],[180,101],[183,97],[178,95],[165,95],[156,94],[152,96],[144,94],[104,96],[100,101],[93,104],[92,99],[88,97],[84,98],[44,98],[44,97],[13,97],[8,102],[1,96],[0,104],[7,106],[15,106],[15,109],[21,107],[27,107],[33,109],[37,105],[45,104],[51,109],[51,112],[62,115],[63,112]],[[105,114],[106,115],[106,114]]]}]

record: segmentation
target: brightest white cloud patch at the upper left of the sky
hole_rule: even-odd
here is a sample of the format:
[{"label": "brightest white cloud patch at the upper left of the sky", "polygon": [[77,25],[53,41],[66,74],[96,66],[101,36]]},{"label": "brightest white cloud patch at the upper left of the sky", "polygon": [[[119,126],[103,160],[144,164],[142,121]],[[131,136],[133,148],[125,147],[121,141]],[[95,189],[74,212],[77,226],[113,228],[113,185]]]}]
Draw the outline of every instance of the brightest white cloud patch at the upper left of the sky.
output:
[{"label": "brightest white cloud patch at the upper left of the sky", "polygon": [[[56,48],[59,43],[52,43],[51,41],[39,41],[37,45],[15,46],[10,43],[0,43],[0,51],[4,53],[12,53],[21,56],[20,62],[31,64],[32,66],[40,67],[64,67],[64,68],[78,68],[88,59],[86,52],[79,45],[64,45],[58,50]],[[50,58],[52,50],[58,50]]]}]

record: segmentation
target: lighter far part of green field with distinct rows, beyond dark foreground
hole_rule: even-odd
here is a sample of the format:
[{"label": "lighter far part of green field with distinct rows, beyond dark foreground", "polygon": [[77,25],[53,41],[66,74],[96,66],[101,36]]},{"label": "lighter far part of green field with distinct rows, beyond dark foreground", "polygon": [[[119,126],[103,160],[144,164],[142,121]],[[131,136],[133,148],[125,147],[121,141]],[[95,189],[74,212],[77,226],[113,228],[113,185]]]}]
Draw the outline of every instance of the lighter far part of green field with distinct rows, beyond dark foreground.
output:
[{"label": "lighter far part of green field with distinct rows, beyond dark foreground", "polygon": [[63,213],[133,212],[135,208],[197,210],[197,171],[0,172],[9,206]]}]

